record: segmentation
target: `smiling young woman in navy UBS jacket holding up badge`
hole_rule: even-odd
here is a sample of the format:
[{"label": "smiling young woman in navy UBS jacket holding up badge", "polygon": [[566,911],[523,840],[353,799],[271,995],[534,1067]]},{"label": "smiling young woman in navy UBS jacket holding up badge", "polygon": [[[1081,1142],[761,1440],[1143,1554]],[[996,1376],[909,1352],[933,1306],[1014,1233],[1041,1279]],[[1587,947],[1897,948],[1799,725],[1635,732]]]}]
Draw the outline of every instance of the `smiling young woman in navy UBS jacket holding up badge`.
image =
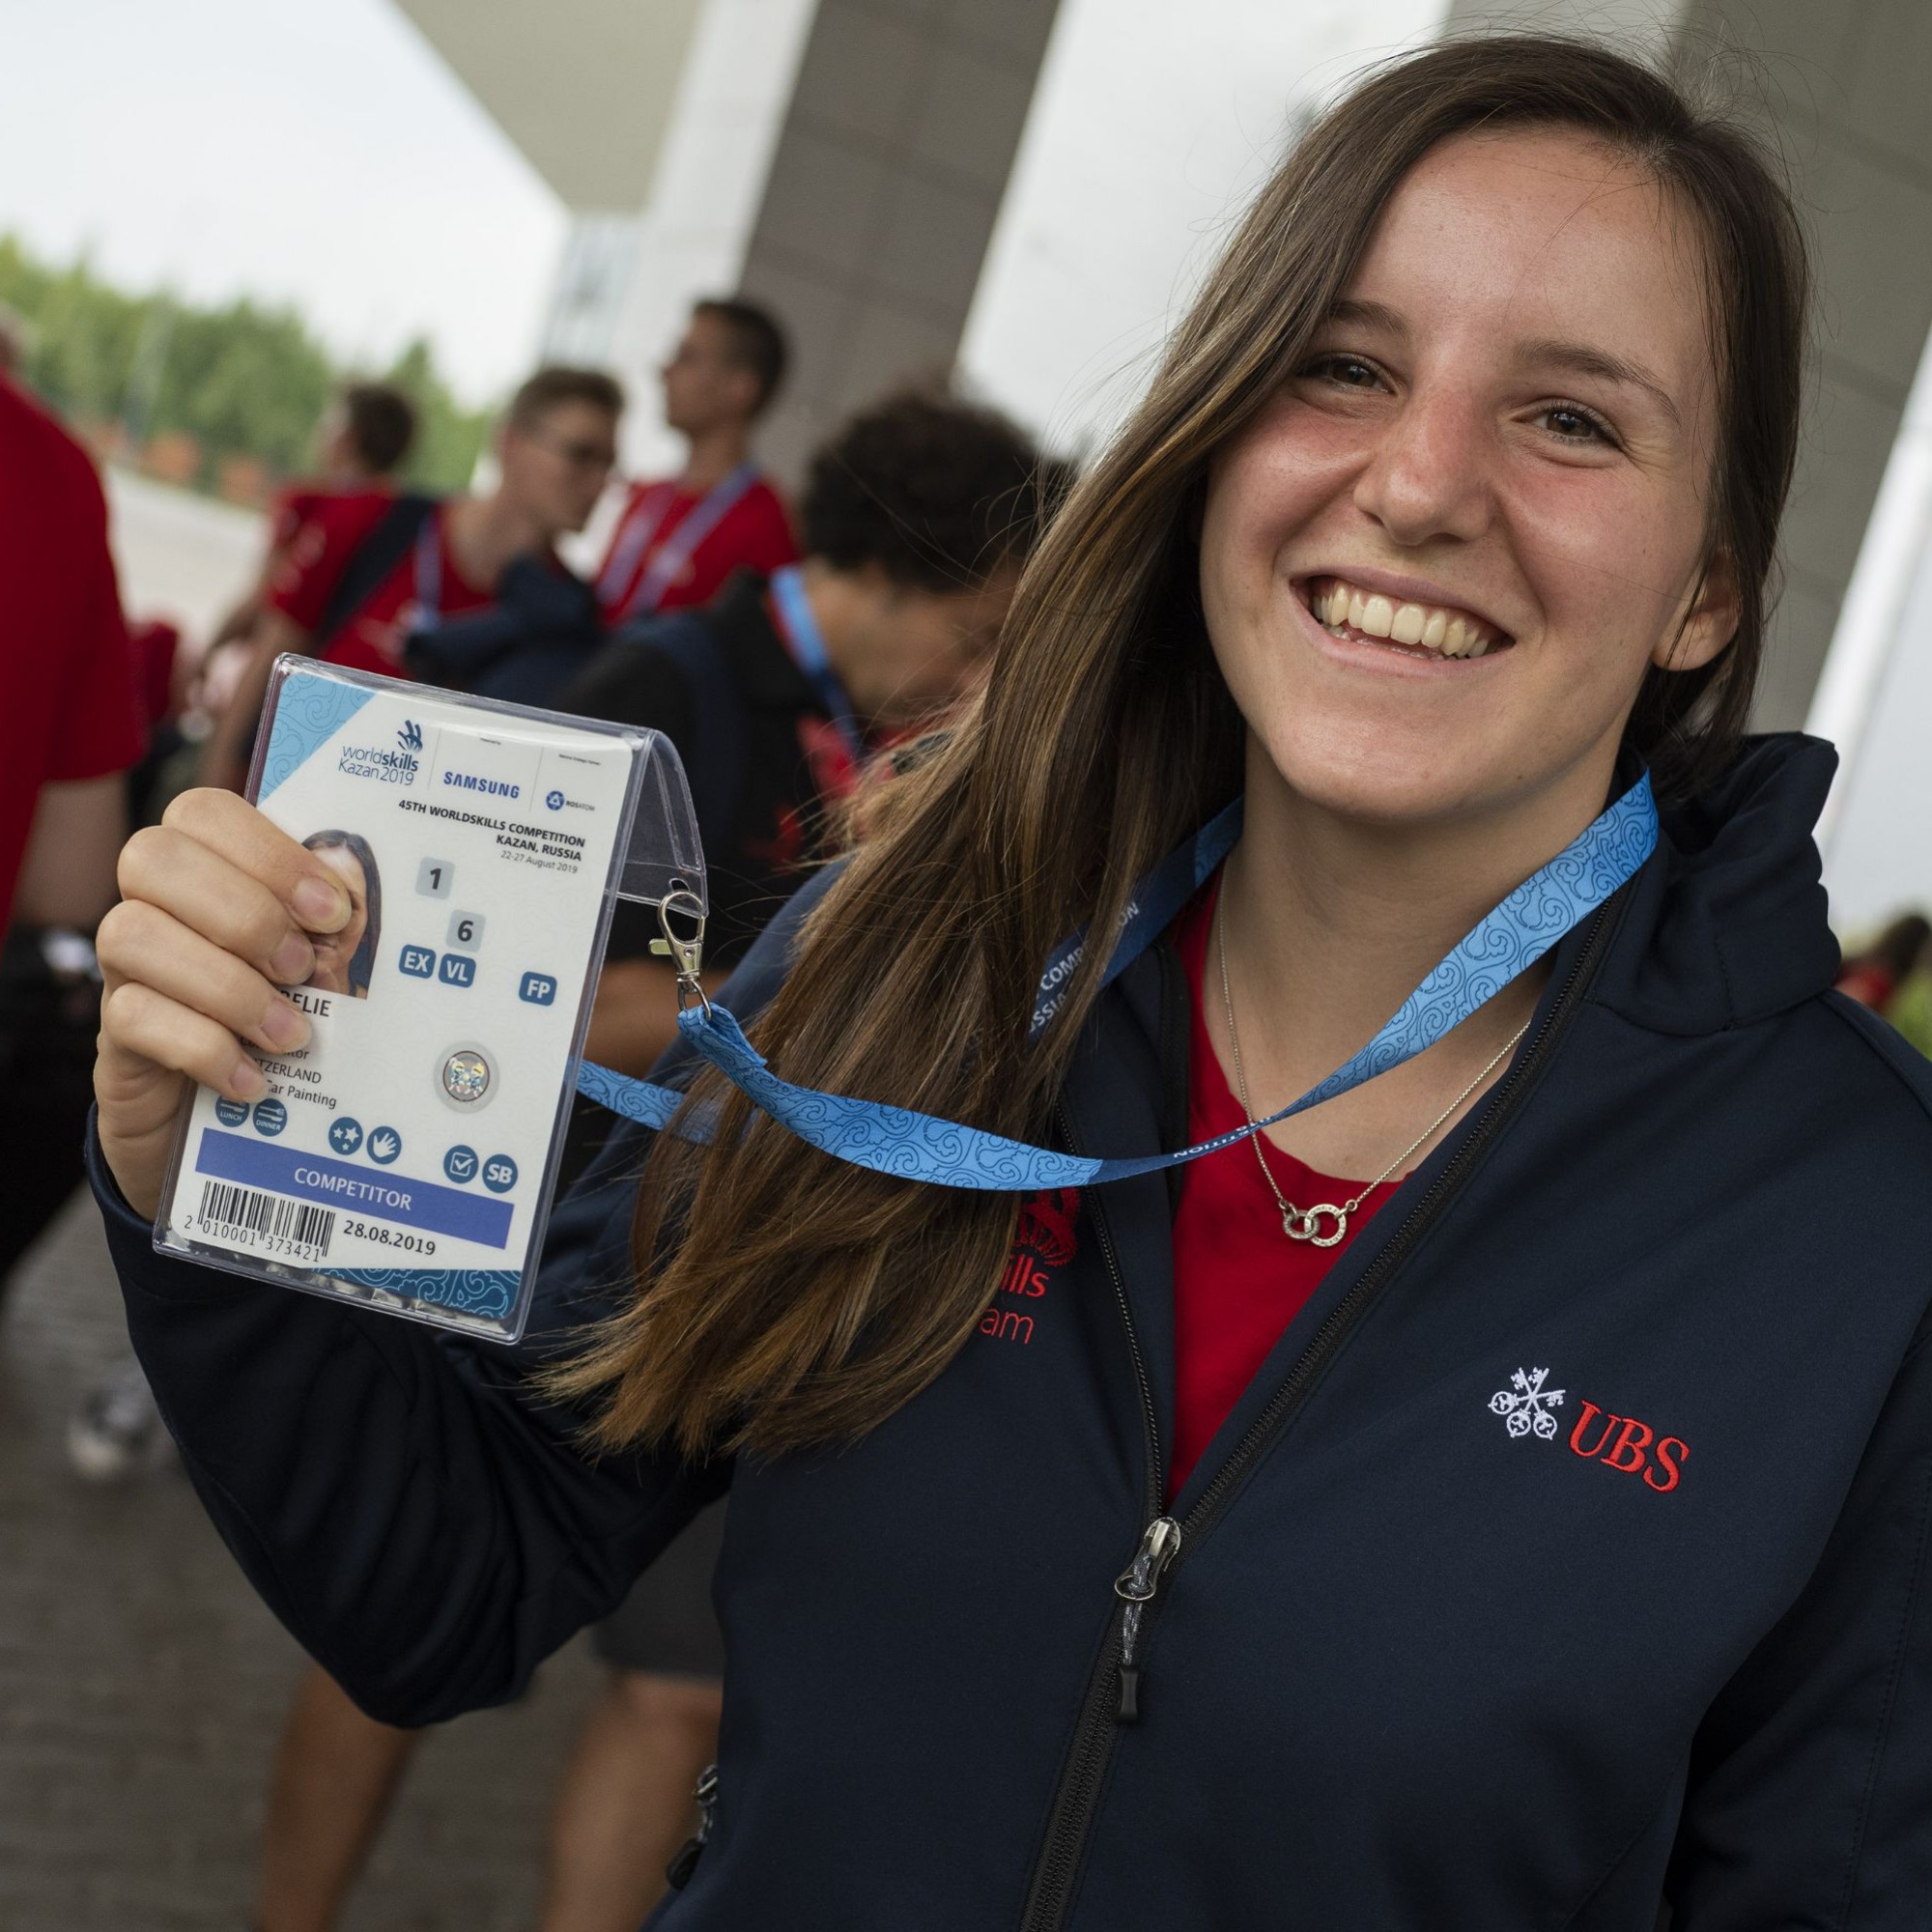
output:
[{"label": "smiling young woman in navy UBS jacket holding up badge", "polygon": [[[1393,62],[1287,158],[981,707],[724,995],[804,1086],[1229,1136],[1167,1175],[927,1186],[684,1055],[715,1132],[618,1138],[522,1358],[263,1294],[143,1215],[319,867],[232,798],[137,840],[99,1186],[298,1636],[390,1721],[512,1696],[728,1486],[667,1932],[1918,1926],[1932,1082],[1830,991],[1830,752],[1741,738],[1804,296],[1750,141],[1598,48]],[[1654,852],[1517,972],[1644,769]],[[1420,981],[1466,1016],[1238,1138]]]}]

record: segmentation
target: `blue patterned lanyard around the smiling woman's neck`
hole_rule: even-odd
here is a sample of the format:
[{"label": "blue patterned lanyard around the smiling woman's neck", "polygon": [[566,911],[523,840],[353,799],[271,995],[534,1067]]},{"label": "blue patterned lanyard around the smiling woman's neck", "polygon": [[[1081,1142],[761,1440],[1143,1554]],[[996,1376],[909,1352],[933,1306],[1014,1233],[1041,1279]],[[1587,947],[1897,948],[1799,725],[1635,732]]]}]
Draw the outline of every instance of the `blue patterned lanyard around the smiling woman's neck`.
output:
[{"label": "blue patterned lanyard around the smiling woman's neck", "polygon": [[[1142,881],[1107,962],[1109,981],[1153,943],[1238,837],[1236,804],[1171,852]],[[1412,1061],[1549,952],[1571,927],[1638,871],[1656,844],[1658,808],[1646,773],[1548,866],[1484,914],[1360,1053],[1279,1113],[1182,1148],[1179,1153],[1088,1159],[883,1101],[792,1086],[765,1065],[724,1007],[703,999],[678,1014],[678,1032],[755,1107],[808,1146],[854,1167],[939,1186],[1018,1194],[1039,1188],[1101,1186],[1233,1148],[1277,1121],[1318,1107],[1362,1086],[1364,1080],[1374,1080],[1376,1074]],[[1065,987],[1082,949],[1082,937],[1066,941],[1041,976],[1034,1034],[1057,1010],[1055,989]],[[684,1103],[684,1095],[672,1088],[632,1080],[591,1063],[578,1068],[578,1090],[614,1113],[655,1128],[668,1126]],[[703,1122],[680,1122],[678,1132],[703,1138]]]}]

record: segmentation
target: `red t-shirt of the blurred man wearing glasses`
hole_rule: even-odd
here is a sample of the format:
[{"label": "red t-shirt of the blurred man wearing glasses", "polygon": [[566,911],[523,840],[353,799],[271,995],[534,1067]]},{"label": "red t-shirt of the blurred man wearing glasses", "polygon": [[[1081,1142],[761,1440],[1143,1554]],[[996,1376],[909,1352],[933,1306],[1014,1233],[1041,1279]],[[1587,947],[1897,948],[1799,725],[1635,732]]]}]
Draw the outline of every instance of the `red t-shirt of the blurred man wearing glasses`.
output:
[{"label": "red t-shirt of the blurred man wearing glasses", "polygon": [[[354,491],[340,497],[319,497],[309,516],[296,529],[288,554],[276,566],[269,585],[269,605],[313,632],[328,611],[328,599],[342,582],[350,558],[367,543],[396,498],[388,491]],[[396,676],[402,670],[402,647],[435,601],[440,616],[462,616],[495,601],[495,589],[471,583],[456,566],[448,531],[450,506],[437,504],[431,512],[433,568],[419,545],[396,560],[388,576],[363,597],[354,614],[336,634],[323,641],[317,653],[330,665],[350,670],[377,670]]]}]

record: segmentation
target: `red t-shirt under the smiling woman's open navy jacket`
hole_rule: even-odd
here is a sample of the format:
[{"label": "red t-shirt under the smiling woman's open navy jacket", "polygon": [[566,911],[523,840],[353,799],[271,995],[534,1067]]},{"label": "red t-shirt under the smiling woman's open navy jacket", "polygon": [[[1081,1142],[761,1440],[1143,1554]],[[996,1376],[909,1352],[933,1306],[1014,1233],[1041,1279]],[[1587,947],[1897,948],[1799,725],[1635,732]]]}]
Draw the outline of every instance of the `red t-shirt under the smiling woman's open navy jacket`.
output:
[{"label": "red t-shirt under the smiling woman's open navy jacket", "polygon": [[[1221,997],[1221,978],[1208,956],[1208,935],[1219,875],[1196,895],[1175,929],[1175,949],[1192,989],[1194,1020],[1188,1047],[1188,1146],[1238,1128],[1246,1115],[1221,1072],[1208,1037],[1208,997]],[[1273,1095],[1254,1095],[1264,1105]],[[1275,1105],[1287,1095],[1273,1097]],[[1360,1180],[1337,1180],[1279,1151],[1264,1150],[1275,1186],[1296,1206],[1341,1206],[1354,1200]],[[1333,1248],[1291,1240],[1281,1229],[1281,1209],[1254,1157],[1240,1142],[1204,1153],[1180,1171],[1180,1208],[1175,1213],[1175,1447],[1167,1464],[1167,1493],[1175,1497],[1202,1451],[1227,1420],[1242,1389],[1254,1379],[1281,1331],[1321,1287],[1368,1225],[1368,1217],[1395,1192],[1387,1180],[1349,1215],[1349,1233]]]}]

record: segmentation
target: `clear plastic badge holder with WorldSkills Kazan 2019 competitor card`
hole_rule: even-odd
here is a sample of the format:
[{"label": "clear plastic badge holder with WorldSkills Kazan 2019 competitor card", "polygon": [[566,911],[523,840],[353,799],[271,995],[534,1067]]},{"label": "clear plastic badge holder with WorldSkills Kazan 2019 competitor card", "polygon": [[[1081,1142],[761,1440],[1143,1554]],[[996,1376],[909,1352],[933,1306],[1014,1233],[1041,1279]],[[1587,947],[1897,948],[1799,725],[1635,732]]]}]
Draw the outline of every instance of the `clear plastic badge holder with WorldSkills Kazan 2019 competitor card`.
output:
[{"label": "clear plastic badge holder with WorldSkills Kazan 2019 competitor card", "polygon": [[612,904],[701,943],[678,755],[651,730],[282,657],[247,796],[354,912],[288,989],[307,1045],[257,1055],[269,1094],[189,1094],[155,1246],[514,1343]]}]

